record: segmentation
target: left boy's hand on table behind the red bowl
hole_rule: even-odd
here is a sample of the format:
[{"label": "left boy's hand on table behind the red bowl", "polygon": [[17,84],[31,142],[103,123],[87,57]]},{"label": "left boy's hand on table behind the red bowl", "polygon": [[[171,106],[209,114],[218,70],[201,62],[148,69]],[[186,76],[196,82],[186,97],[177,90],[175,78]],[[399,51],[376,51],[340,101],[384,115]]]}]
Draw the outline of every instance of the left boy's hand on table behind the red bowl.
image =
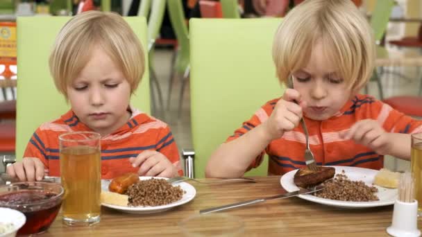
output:
[{"label": "left boy's hand on table behind the red bowl", "polygon": [[39,181],[44,177],[44,164],[38,158],[24,158],[6,168],[6,173],[20,181]]}]

